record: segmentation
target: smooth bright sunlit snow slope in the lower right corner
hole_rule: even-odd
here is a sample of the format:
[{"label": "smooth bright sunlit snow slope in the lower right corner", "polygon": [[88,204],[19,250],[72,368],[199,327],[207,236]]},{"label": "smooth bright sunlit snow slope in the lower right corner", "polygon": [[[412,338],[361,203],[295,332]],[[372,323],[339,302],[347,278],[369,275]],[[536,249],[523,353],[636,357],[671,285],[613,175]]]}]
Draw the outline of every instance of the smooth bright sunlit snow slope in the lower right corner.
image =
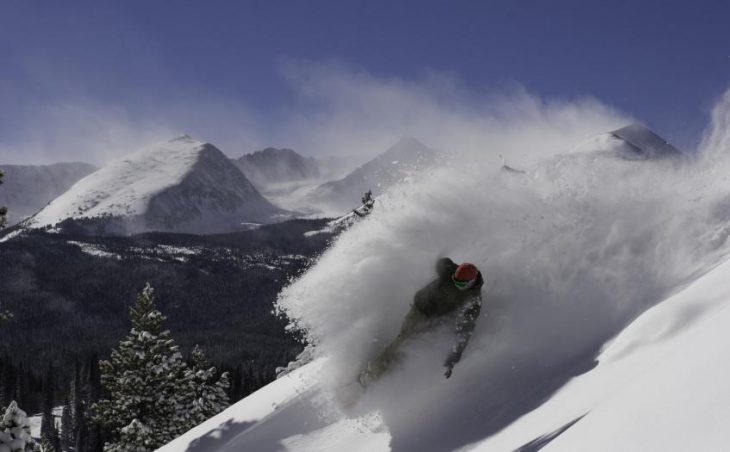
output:
[{"label": "smooth bright sunlit snow slope in the lower right corner", "polygon": [[729,324],[726,262],[629,325],[594,369],[469,450],[517,450],[526,438],[545,451],[727,450]]}]

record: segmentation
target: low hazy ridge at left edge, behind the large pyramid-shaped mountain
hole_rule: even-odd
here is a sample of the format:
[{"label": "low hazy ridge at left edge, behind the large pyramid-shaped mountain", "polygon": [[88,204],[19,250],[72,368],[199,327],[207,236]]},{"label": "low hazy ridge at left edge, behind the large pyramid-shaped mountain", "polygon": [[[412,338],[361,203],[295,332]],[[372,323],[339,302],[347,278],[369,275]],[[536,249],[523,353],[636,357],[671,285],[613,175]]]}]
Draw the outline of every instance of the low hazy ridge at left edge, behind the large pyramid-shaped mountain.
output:
[{"label": "low hazy ridge at left edge, behind the large pyramid-shaped mountain", "polygon": [[0,206],[8,208],[8,224],[33,215],[83,177],[96,171],[88,163],[53,165],[0,165]]}]

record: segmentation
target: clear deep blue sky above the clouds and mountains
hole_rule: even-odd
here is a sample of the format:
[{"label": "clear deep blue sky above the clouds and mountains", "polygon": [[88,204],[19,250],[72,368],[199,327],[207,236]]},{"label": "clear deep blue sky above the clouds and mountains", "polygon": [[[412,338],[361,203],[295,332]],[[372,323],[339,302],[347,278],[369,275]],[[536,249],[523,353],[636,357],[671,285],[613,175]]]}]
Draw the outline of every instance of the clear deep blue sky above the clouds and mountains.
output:
[{"label": "clear deep blue sky above the clouds and mountains", "polygon": [[[273,125],[324,108],[292,82],[322,66],[386,84],[435,74],[474,98],[591,96],[692,147],[730,84],[728,17],[709,0],[0,0],[0,152],[89,159],[69,131],[113,140],[151,124],[231,154],[306,148]],[[237,142],[237,127],[255,138]]]}]

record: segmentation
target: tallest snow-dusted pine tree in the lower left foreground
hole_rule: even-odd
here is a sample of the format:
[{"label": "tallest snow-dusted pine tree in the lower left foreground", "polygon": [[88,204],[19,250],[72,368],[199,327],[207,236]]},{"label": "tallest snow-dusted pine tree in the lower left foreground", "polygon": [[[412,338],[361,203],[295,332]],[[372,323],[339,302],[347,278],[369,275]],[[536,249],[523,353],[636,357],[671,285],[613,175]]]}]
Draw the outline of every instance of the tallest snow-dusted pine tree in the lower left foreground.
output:
[{"label": "tallest snow-dusted pine tree in the lower left foreground", "polygon": [[101,361],[101,383],[110,398],[97,402],[95,420],[108,427],[110,452],[152,451],[187,431],[193,374],[183,361],[170,332],[162,330],[165,319],[157,310],[149,284],[130,309],[132,330]]}]

